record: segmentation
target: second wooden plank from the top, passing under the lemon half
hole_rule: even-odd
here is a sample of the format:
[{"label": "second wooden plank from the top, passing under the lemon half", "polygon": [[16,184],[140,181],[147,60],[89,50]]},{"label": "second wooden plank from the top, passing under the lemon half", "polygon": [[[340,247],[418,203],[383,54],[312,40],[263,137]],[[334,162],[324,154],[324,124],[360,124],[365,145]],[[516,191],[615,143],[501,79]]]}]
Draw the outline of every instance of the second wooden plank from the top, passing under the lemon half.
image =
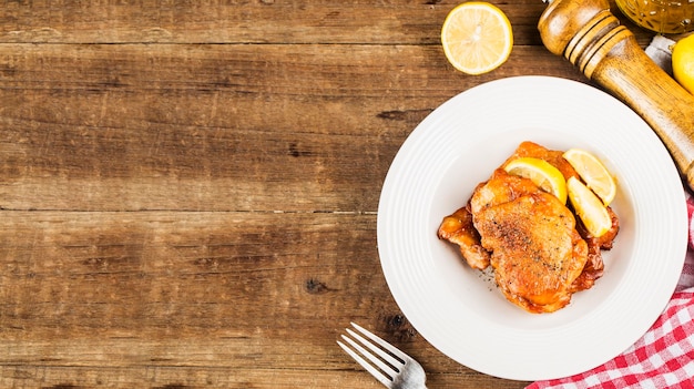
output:
[{"label": "second wooden plank from the top, passing under the lemon half", "polygon": [[155,48],[0,47],[0,206],[374,212],[438,104],[504,76],[582,76],[535,47],[473,79],[429,45]]}]

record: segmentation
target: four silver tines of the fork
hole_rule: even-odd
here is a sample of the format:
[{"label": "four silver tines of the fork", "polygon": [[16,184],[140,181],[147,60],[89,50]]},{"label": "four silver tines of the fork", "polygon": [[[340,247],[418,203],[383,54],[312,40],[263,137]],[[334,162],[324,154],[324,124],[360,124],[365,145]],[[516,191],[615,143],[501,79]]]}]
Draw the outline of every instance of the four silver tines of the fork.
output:
[{"label": "four silver tines of the fork", "polygon": [[[387,341],[377,337],[376,335],[369,332],[368,330],[364,329],[359,325],[351,323],[351,326],[357,331],[361,332],[364,336],[366,336],[367,338],[376,342],[378,346],[380,346],[382,349],[387,350],[388,352],[384,351],[381,348],[378,348],[376,345],[374,345],[374,342],[365,339],[363,336],[353,331],[349,328],[346,328],[347,334],[349,334],[349,336],[351,336],[351,338],[356,339],[358,342],[343,335],[341,336],[343,339],[347,344],[349,344],[351,348],[347,347],[345,344],[343,344],[339,340],[337,341],[337,344],[345,350],[345,352],[351,356],[351,358],[354,358],[357,362],[359,362],[361,367],[364,367],[368,372],[370,372],[371,376],[376,377],[376,379],[378,379],[382,385],[390,387],[392,385],[392,381],[396,375],[400,372],[402,367],[405,367],[405,365],[409,360],[411,360],[411,358],[407,354],[398,350],[392,345],[388,344]],[[364,348],[363,346],[368,348],[368,350]],[[369,352],[369,350],[371,352]],[[368,359],[372,365],[367,362],[363,357]],[[375,368],[374,365],[378,367],[378,369]]]}]

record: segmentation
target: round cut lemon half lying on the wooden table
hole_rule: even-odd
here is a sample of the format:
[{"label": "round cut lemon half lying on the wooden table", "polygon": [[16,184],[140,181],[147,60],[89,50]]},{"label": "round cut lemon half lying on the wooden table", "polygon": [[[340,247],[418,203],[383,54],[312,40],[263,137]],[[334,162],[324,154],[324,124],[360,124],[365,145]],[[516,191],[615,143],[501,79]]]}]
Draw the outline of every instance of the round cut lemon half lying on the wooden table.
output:
[{"label": "round cut lemon half lying on the wooden table", "polygon": [[513,32],[503,11],[488,2],[470,1],[448,13],[441,28],[441,44],[453,68],[482,74],[509,58]]}]

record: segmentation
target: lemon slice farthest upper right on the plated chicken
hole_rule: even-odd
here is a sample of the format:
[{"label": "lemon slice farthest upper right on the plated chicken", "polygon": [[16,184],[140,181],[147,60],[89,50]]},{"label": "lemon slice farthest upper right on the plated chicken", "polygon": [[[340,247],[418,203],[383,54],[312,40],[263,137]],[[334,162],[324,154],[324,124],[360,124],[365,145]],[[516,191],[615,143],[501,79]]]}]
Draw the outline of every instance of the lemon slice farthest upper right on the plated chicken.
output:
[{"label": "lemon slice farthest upper right on the plated chicken", "polygon": [[616,183],[605,165],[585,150],[570,149],[563,156],[602,203],[610,205],[616,195]]}]

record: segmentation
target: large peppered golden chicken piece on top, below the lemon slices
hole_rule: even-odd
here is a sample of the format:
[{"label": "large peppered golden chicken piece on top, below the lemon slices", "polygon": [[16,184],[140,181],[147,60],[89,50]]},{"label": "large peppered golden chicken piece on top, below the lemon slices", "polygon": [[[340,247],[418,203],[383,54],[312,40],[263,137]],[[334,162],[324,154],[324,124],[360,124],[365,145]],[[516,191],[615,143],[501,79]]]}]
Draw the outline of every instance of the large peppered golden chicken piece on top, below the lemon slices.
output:
[{"label": "large peppered golden chicken piece on top, below the lemon slices", "polygon": [[529,311],[550,313],[571,300],[588,245],[571,211],[528,183],[496,171],[472,195],[472,218],[506,298]]}]

